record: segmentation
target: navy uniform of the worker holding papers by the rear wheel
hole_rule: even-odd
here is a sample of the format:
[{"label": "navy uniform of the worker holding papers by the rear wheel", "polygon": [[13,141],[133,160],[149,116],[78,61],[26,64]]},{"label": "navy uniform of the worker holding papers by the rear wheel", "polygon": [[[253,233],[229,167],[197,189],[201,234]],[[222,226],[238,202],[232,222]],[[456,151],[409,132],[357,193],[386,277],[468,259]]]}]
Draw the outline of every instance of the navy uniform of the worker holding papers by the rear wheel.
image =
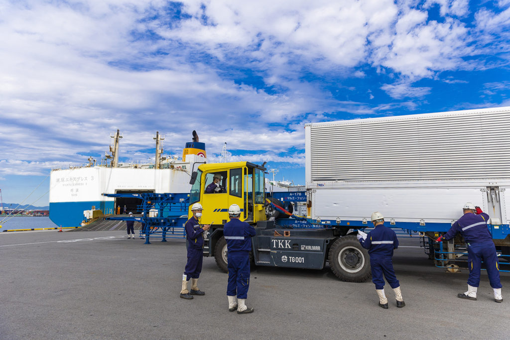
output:
[{"label": "navy uniform of the worker holding papers by the rear wheel", "polygon": [[384,277],[395,289],[400,286],[393,269],[393,249],[398,248],[398,239],[395,231],[382,224],[377,225],[367,234],[365,240],[360,240],[363,248],[368,249],[370,254],[370,266],[372,269],[372,282],[376,290],[384,289]]}]

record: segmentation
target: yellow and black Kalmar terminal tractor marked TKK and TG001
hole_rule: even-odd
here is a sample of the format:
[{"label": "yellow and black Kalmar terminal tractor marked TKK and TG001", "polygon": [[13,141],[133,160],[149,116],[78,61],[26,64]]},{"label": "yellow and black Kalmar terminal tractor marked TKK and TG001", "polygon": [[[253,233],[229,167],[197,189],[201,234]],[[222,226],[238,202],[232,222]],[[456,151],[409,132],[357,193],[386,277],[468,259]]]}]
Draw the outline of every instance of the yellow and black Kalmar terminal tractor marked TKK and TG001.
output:
[{"label": "yellow and black Kalmar terminal tractor marked TKK and TG001", "polygon": [[[265,193],[263,166],[249,162],[201,164],[192,172],[190,207],[203,206],[201,224],[211,224],[203,255],[214,256],[220,270],[227,271],[227,247],[223,225],[230,221],[228,207],[241,208],[240,220],[252,224],[252,260],[258,266],[322,269],[329,262],[344,281],[362,282],[370,276],[367,251],[350,227],[286,229],[275,226],[273,208]],[[192,212],[188,211],[188,218]]]}]

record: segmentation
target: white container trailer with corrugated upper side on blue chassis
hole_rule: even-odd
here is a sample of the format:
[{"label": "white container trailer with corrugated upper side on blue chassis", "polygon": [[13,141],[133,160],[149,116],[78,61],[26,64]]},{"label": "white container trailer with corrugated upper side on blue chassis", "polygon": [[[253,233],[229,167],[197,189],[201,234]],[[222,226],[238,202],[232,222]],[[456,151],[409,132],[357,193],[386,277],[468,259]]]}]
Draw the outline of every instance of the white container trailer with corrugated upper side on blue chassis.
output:
[{"label": "white container trailer with corrugated upper side on blue chassis", "polygon": [[305,148],[313,223],[363,228],[379,211],[432,237],[472,202],[508,245],[510,107],[310,123]]}]

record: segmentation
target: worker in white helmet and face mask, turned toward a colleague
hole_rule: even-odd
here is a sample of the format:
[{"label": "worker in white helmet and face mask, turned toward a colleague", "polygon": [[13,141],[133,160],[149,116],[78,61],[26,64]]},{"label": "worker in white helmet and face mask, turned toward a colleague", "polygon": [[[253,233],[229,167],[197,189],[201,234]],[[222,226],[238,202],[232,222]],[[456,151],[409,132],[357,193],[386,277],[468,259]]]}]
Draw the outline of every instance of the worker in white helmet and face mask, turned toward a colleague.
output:
[{"label": "worker in white helmet and face mask, turned toward a colleague", "polygon": [[[184,269],[183,286],[181,289],[181,298],[193,299],[193,295],[205,295],[206,293],[198,289],[198,277],[202,271],[203,258],[203,232],[209,230],[210,225],[200,225],[198,219],[202,216],[202,205],[195,203],[191,207],[193,216],[186,222],[186,248],[188,251],[188,262]],[[191,290],[188,291],[188,282],[191,279]]]}]

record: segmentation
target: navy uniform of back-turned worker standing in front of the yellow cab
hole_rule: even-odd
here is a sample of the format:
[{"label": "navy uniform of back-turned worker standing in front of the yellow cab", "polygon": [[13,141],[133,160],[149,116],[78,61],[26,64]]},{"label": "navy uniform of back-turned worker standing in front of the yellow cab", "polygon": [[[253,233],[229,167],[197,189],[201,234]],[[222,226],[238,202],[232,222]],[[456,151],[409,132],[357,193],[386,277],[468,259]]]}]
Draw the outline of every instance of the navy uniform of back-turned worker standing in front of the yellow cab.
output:
[{"label": "navy uniform of back-turned worker standing in front of the yellow cab", "polygon": [[250,285],[249,252],[251,237],[256,231],[253,226],[233,218],[223,227],[223,236],[227,246],[228,285],[227,296],[246,299]]}]

